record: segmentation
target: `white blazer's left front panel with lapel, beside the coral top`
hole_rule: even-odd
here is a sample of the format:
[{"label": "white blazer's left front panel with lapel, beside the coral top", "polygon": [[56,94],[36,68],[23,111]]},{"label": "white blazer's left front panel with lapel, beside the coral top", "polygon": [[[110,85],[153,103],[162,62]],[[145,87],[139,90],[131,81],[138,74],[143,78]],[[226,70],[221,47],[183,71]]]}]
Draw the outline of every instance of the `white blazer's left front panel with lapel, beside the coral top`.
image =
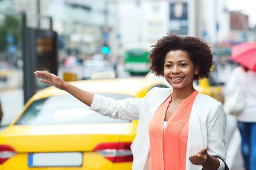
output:
[{"label": "white blazer's left front panel with lapel, beside the coral top", "polygon": [[148,126],[154,113],[157,111],[157,108],[160,107],[160,105],[170,96],[170,94],[172,94],[172,88],[169,88],[168,90],[169,91],[167,92],[165,91],[165,94],[163,96],[159,97],[159,101],[157,101],[157,103],[150,109],[148,113],[143,113],[147,114],[147,116],[145,117],[145,120],[141,125],[141,130],[137,132],[137,135],[133,142],[134,144],[132,144],[133,146],[131,146],[132,152],[136,152],[136,154],[134,154],[134,156],[136,156],[136,158],[134,157],[134,160],[136,162],[133,162],[134,170],[143,170],[144,168],[150,148]]}]

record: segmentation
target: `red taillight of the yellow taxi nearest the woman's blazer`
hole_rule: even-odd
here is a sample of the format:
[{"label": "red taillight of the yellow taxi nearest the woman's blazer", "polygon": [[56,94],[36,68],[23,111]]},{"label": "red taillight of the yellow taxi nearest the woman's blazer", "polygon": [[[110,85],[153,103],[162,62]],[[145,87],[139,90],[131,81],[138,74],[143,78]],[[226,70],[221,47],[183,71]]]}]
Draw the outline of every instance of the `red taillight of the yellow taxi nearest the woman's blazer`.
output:
[{"label": "red taillight of the yellow taxi nearest the woman's blazer", "polygon": [[114,163],[133,161],[131,142],[100,143],[94,147],[93,151]]}]

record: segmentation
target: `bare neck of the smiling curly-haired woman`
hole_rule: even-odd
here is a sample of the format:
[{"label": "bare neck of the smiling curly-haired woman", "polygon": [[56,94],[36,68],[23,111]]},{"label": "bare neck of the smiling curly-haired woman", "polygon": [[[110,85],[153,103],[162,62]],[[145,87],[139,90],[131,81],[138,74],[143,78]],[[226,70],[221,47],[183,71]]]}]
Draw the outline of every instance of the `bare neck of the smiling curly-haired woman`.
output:
[{"label": "bare neck of the smiling curly-haired woman", "polygon": [[182,102],[182,100],[188,98],[192,93],[194,93],[195,88],[193,85],[190,85],[186,88],[173,89],[172,101],[173,102]]}]

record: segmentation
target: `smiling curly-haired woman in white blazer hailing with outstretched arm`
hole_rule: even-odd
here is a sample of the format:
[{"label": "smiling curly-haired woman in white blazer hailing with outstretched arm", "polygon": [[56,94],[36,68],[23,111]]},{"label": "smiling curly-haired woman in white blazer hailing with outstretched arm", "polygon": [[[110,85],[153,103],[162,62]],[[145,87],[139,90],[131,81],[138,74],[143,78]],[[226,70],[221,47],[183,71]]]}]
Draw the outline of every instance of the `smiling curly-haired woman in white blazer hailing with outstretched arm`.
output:
[{"label": "smiling curly-haired woman in white blazer hailing with outstretched arm", "polygon": [[173,88],[153,88],[144,98],[116,101],[82,91],[48,72],[36,71],[35,76],[102,115],[139,119],[131,145],[134,170],[224,170],[224,163],[212,157],[226,159],[222,105],[193,87],[193,81],[209,76],[210,47],[198,38],[174,34],[153,47],[150,69]]}]

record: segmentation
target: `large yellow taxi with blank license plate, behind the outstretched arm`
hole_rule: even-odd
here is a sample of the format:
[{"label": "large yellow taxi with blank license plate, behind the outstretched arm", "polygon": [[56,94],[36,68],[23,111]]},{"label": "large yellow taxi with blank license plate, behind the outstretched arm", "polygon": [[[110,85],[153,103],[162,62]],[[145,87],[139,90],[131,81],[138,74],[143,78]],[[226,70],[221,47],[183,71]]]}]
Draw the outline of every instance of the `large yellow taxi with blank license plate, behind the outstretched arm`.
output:
[{"label": "large yellow taxi with blank license plate, behind the outstretched arm", "polygon": [[[145,78],[71,84],[116,100],[166,87]],[[102,116],[67,92],[48,87],[32,96],[0,133],[0,170],[131,170],[136,128],[137,120]]]}]

